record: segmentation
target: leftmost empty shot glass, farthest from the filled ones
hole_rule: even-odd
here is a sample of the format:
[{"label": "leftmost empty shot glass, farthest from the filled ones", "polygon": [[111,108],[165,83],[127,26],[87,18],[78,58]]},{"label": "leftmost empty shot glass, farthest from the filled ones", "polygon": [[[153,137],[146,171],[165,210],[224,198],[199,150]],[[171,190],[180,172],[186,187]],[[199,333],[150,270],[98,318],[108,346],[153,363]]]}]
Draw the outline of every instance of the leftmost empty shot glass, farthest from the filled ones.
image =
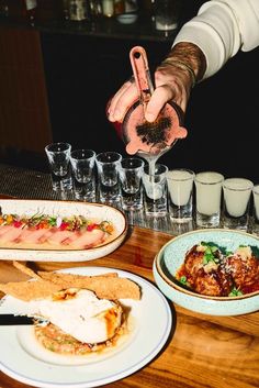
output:
[{"label": "leftmost empty shot glass, farthest from the filled ones", "polygon": [[71,166],[69,143],[53,143],[45,147],[47,155],[54,191],[71,190]]}]

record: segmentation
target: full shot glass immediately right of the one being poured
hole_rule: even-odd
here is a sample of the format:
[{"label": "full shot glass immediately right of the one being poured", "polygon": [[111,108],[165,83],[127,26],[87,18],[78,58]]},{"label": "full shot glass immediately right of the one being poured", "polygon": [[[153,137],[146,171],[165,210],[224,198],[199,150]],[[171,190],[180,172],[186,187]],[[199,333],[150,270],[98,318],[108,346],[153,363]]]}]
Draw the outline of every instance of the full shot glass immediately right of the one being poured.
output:
[{"label": "full shot glass immediately right of the one being poured", "polygon": [[168,207],[172,222],[192,221],[193,179],[195,174],[185,168],[167,173]]}]

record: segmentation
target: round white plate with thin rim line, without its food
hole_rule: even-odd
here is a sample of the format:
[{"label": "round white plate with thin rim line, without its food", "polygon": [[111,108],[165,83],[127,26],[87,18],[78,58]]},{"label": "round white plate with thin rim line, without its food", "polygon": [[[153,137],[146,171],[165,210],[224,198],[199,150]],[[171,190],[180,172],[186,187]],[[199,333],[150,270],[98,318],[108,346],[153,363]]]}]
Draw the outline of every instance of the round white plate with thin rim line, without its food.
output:
[{"label": "round white plate with thin rim line, without its food", "polygon": [[[0,363],[4,374],[38,388],[98,387],[132,375],[161,351],[170,334],[172,318],[167,299],[153,284],[114,268],[81,267],[63,271],[79,275],[116,271],[120,277],[137,282],[142,288],[142,299],[121,300],[131,308],[131,334],[111,353],[72,358],[55,356],[38,348],[32,326],[0,326]],[[3,303],[0,313],[7,312],[10,313],[10,309],[4,309]]]}]

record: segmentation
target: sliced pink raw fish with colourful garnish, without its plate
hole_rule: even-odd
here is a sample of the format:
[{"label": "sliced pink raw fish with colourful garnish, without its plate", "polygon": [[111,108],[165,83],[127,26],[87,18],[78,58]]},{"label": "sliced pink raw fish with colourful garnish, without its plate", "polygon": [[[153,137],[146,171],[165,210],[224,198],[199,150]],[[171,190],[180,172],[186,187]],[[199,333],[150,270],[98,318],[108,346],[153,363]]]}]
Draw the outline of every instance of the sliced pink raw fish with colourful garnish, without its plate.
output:
[{"label": "sliced pink raw fish with colourful garnish, without its plate", "polygon": [[109,242],[114,232],[111,221],[83,215],[0,215],[0,246],[8,248],[87,250]]}]

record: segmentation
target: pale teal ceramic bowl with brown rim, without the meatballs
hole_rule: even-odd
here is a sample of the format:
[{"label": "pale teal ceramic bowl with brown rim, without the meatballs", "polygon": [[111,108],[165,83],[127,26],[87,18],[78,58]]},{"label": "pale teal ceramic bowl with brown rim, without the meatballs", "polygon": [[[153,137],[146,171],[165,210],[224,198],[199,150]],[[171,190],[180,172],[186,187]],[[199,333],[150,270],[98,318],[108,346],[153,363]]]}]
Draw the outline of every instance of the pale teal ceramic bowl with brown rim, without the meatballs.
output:
[{"label": "pale teal ceramic bowl with brown rim, without the meatballs", "polygon": [[203,314],[239,315],[259,310],[259,291],[238,297],[211,297],[188,290],[176,281],[176,271],[183,263],[187,251],[202,241],[213,242],[233,252],[239,245],[259,250],[258,237],[239,231],[198,230],[177,236],[161,247],[154,260],[153,274],[161,292],[172,302]]}]

